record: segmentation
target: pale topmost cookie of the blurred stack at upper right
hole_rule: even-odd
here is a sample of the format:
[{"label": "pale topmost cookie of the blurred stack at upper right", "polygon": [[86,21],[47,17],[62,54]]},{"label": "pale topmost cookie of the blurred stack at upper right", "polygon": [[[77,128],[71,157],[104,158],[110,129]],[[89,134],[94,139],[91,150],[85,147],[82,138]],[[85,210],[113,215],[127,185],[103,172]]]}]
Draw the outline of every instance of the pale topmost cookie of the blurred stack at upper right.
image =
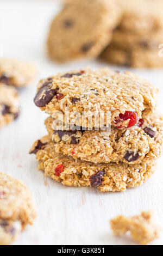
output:
[{"label": "pale topmost cookie of the blurred stack at upper right", "polygon": [[120,4],[123,17],[120,29],[135,34],[152,34],[163,29],[162,9],[160,0],[116,0]]}]

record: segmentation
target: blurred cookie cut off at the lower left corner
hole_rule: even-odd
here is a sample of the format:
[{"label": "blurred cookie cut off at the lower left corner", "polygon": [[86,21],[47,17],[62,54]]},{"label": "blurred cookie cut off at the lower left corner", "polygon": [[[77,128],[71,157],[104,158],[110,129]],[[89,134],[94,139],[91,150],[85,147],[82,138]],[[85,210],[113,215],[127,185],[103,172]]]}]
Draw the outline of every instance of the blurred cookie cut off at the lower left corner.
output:
[{"label": "blurred cookie cut off at the lower left corner", "polygon": [[15,241],[36,212],[32,196],[21,181],[0,173],[0,245]]}]

